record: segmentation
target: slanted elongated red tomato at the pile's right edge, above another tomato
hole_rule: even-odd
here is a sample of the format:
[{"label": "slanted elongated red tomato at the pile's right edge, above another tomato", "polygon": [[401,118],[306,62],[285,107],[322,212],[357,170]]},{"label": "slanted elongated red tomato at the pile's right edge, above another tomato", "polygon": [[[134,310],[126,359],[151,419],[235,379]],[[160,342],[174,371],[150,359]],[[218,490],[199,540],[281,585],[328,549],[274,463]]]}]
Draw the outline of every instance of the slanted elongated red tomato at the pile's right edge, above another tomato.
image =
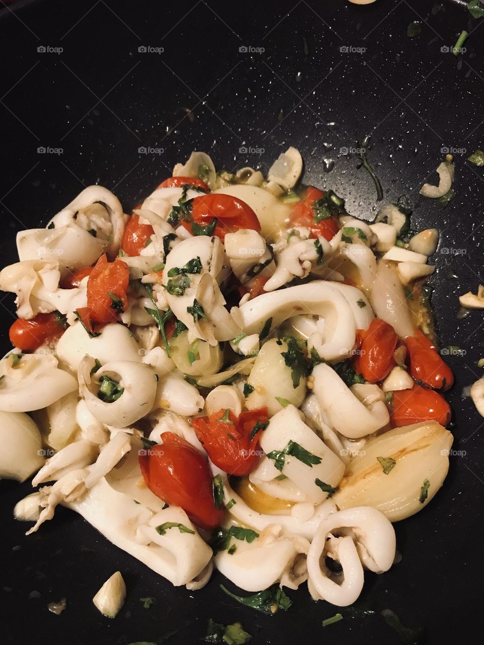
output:
[{"label": "slanted elongated red tomato at the pile's right edge, above another tomato", "polygon": [[439,356],[436,346],[416,328],[413,336],[405,339],[408,366],[412,378],[434,390],[449,390],[454,383],[450,367]]}]

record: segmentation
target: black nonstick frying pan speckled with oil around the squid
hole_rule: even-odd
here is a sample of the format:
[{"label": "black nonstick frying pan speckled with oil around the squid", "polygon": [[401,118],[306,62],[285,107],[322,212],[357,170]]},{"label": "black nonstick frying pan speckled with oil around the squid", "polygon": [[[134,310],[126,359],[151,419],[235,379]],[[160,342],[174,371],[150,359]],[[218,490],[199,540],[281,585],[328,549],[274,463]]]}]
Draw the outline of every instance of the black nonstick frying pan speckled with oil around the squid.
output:
[{"label": "black nonstick frying pan speckled with oil around the squid", "polygon": [[[312,602],[303,588],[289,591],[294,605],[274,617],[230,600],[219,590],[221,575],[203,591],[173,588],[62,508],[26,538],[12,508],[30,484],[4,481],[3,643],[195,643],[210,617],[241,620],[254,644],[399,643],[378,615],[384,609],[408,626],[425,626],[429,644],[482,642],[482,419],[462,390],[482,372],[476,361],[484,355],[484,319],[474,312],[459,321],[456,312],[457,294],[475,291],[481,281],[484,175],[466,158],[484,144],[484,19],[474,21],[465,4],[23,0],[0,10],[3,265],[16,259],[18,230],[45,224],[84,185],[114,190],[129,212],[192,150],[210,153],[218,168],[267,169],[288,145],[297,146],[305,183],[333,188],[350,213],[371,219],[374,186],[341,149],[373,132],[368,157],[385,199],[407,193],[415,227],[441,231],[430,280],[438,333],[443,346],[467,352],[449,359],[456,373],[449,393],[454,448],[465,455],[452,457],[429,507],[396,525],[403,561],[385,575],[365,576],[361,600],[375,615],[323,628],[338,609]],[[412,21],[422,22],[421,33],[409,38]],[[445,48],[463,29],[474,31],[459,59]],[[264,51],[241,50],[250,47]],[[41,147],[63,151],[42,154]],[[420,199],[418,188],[443,147],[467,152],[456,153],[457,196],[441,211]],[[330,160],[334,170],[327,173]],[[12,297],[3,295],[1,303],[6,351]],[[109,620],[91,599],[117,569],[128,597]],[[139,602],[147,596],[156,597],[149,610]],[[61,597],[68,606],[56,616],[47,604]]]}]

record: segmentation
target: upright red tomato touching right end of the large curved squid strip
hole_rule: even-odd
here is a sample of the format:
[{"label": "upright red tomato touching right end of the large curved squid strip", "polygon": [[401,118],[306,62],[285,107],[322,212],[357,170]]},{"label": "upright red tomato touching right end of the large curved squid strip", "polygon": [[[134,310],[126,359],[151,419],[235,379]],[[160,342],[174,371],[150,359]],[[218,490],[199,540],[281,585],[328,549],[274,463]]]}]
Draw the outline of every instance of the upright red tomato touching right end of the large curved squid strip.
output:
[{"label": "upright red tomato touching right end of the large curved squid strip", "polygon": [[358,330],[357,341],[358,339],[361,339],[361,345],[354,364],[356,372],[370,383],[383,381],[395,365],[393,352],[398,337],[394,328],[385,321],[374,318],[366,331]]}]

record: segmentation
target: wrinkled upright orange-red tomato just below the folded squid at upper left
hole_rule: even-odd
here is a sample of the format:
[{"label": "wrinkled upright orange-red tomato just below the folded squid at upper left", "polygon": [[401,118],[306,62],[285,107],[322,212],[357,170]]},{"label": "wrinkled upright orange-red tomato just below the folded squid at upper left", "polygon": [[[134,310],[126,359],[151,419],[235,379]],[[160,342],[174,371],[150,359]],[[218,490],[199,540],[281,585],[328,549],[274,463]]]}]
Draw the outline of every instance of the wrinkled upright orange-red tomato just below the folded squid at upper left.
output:
[{"label": "wrinkled upright orange-red tomato just below the folded squid at upper left", "polygon": [[125,262],[119,258],[114,262],[108,262],[106,255],[101,255],[87,283],[87,306],[94,323],[116,323],[117,321],[119,311],[112,308],[113,301],[108,295],[109,292],[121,298],[123,310],[126,311],[129,277],[129,268]]}]

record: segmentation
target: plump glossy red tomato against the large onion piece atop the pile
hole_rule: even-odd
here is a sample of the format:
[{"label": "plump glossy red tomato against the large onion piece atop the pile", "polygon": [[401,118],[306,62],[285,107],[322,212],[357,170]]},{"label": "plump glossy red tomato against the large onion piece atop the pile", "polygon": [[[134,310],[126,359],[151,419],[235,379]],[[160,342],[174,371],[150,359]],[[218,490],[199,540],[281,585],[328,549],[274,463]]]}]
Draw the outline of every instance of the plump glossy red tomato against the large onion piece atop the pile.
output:
[{"label": "plump glossy red tomato against the large onion piece atop the pile", "polygon": [[[192,219],[196,224],[211,224],[217,219],[212,235],[218,235],[224,241],[227,233],[235,233],[240,228],[252,228],[259,232],[261,224],[256,213],[241,199],[232,195],[214,194],[200,195],[192,201]],[[180,224],[192,233],[192,223],[180,221]]]}]

